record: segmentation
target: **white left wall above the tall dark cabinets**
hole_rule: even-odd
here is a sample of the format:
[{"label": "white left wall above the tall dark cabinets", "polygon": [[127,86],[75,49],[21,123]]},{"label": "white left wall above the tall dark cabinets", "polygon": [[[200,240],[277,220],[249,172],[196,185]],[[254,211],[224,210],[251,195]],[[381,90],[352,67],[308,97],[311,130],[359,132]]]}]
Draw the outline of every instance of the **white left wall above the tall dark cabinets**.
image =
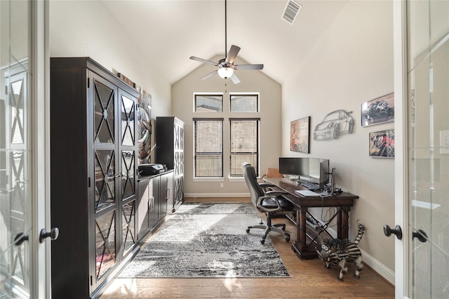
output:
[{"label": "white left wall above the tall dark cabinets", "polygon": [[171,112],[168,80],[161,77],[102,1],[50,1],[50,56],[89,56],[152,95],[152,117]]}]

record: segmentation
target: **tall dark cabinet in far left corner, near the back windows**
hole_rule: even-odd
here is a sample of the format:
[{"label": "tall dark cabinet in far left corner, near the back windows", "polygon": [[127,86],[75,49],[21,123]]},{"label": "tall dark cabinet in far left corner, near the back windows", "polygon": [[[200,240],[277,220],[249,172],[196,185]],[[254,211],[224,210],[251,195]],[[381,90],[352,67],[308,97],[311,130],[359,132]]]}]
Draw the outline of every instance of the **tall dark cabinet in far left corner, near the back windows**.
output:
[{"label": "tall dark cabinet in far left corner, near the back windows", "polygon": [[156,161],[173,169],[173,209],[184,201],[184,122],[156,117]]}]

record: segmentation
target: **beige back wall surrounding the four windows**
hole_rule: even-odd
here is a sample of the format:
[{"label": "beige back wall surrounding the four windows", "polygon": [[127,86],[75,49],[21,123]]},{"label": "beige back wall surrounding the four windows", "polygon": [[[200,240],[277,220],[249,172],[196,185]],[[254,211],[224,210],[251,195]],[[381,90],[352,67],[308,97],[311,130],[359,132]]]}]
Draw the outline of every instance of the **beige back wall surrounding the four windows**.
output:
[{"label": "beige back wall surrounding the four windows", "polygon": [[[218,61],[222,57],[210,58]],[[206,58],[209,59],[209,58]],[[236,64],[245,64],[237,58]],[[260,173],[267,168],[277,168],[281,154],[281,85],[257,70],[237,70],[241,80],[233,84],[230,79],[215,75],[206,80],[199,79],[212,72],[215,67],[201,65],[172,88],[173,115],[185,121],[185,180],[186,197],[242,197],[249,196],[243,178],[229,180],[229,117],[260,117]],[[260,93],[260,113],[230,113],[229,93]],[[194,113],[194,93],[224,93],[223,112]],[[224,176],[223,180],[193,180],[193,121],[194,117],[222,117],[224,121]],[[156,128],[157,130],[157,128]],[[223,187],[220,187],[220,183]]]}]

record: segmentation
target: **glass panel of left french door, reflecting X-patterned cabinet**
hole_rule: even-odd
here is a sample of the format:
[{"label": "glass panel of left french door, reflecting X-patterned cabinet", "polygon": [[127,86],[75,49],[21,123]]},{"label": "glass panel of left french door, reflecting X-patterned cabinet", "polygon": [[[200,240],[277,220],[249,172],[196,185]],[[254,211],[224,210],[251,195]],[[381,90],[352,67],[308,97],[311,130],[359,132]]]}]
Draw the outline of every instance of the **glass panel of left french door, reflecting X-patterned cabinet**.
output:
[{"label": "glass panel of left french door, reflecting X-patterned cabinet", "polygon": [[0,298],[32,296],[30,10],[0,1]]}]

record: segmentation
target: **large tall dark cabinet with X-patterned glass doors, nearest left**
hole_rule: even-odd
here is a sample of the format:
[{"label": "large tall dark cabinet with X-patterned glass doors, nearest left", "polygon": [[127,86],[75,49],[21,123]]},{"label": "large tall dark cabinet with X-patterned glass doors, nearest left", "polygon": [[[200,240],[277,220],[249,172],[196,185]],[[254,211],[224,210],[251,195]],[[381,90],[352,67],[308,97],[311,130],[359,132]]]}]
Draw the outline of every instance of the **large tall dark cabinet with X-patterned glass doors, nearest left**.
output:
[{"label": "large tall dark cabinet with X-patterned glass doors, nearest left", "polygon": [[137,98],[91,58],[51,58],[53,298],[98,298],[139,250]]}]

